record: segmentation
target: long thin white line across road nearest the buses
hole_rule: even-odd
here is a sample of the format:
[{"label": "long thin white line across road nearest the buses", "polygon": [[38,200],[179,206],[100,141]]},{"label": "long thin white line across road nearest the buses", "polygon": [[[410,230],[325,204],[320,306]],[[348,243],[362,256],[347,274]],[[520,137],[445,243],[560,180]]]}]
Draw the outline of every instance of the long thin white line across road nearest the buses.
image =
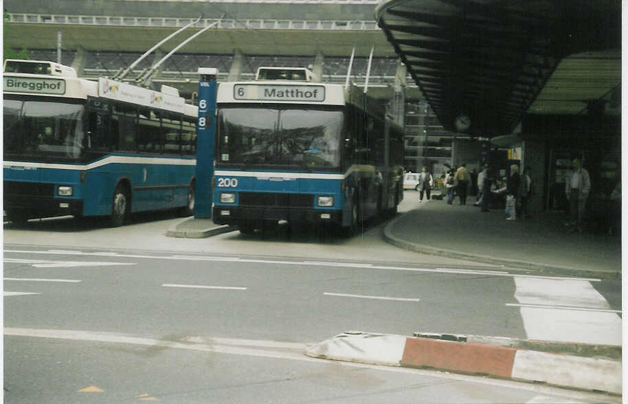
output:
[{"label": "long thin white line across road nearest the buses", "polygon": [[[30,250],[10,250],[5,249],[5,253],[20,253],[20,254],[68,254],[78,256],[115,256],[120,258],[142,258],[150,260],[193,260],[193,261],[214,261],[214,262],[242,262],[242,263],[257,263],[265,265],[317,265],[320,267],[346,267],[348,269],[381,269],[384,271],[411,271],[411,272],[425,272],[425,273],[451,273],[453,275],[480,275],[480,276],[502,276],[506,278],[530,278],[530,279],[559,279],[559,280],[586,280],[588,282],[601,282],[599,278],[572,278],[572,277],[555,277],[555,276],[541,276],[541,275],[526,275],[521,273],[510,273],[508,271],[493,271],[482,269],[450,269],[450,268],[418,268],[418,267],[396,267],[388,265],[372,265],[361,262],[328,262],[328,261],[288,261],[288,260],[262,260],[256,258],[239,258],[239,257],[221,257],[221,256],[148,256],[145,254],[118,254],[108,251],[103,252],[72,252],[72,251],[30,251]],[[115,264],[119,265],[119,264]]]}]

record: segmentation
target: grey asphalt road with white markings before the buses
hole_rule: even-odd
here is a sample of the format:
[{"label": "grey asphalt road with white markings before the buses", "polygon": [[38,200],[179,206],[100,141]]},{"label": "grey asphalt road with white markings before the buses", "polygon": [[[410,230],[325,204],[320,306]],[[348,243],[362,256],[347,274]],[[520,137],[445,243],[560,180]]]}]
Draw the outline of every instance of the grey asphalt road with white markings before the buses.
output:
[{"label": "grey asphalt road with white markings before the buses", "polygon": [[[290,229],[166,238],[175,220],[5,227],[6,402],[620,401],[302,355],[345,330],[567,338],[579,328],[581,339],[616,338],[618,283],[434,262],[381,242],[377,224],[350,239]],[[543,295],[556,287],[558,297]],[[539,307],[548,299],[572,308]],[[565,311],[561,329],[543,324]]]}]

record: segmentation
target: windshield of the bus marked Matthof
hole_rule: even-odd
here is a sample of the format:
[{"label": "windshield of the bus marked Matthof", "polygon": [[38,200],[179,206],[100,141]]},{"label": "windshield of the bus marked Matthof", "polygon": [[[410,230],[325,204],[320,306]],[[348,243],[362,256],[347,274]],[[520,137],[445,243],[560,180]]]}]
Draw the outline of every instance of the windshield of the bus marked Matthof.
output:
[{"label": "windshield of the bus marked Matthof", "polygon": [[342,112],[306,106],[218,110],[218,164],[330,168],[340,164]]}]

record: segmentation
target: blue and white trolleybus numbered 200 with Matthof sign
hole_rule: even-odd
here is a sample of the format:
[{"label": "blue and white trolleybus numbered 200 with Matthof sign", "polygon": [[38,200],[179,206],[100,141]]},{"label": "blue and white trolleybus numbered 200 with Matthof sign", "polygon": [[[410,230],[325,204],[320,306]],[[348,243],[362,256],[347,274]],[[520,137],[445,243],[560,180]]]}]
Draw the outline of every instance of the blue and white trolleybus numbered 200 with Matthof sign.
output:
[{"label": "blue and white trolleybus numbered 200 with Matthof sign", "polygon": [[[240,232],[279,221],[355,232],[403,199],[403,131],[361,89],[263,68],[216,100],[215,223]],[[332,226],[330,226],[332,227]]]}]

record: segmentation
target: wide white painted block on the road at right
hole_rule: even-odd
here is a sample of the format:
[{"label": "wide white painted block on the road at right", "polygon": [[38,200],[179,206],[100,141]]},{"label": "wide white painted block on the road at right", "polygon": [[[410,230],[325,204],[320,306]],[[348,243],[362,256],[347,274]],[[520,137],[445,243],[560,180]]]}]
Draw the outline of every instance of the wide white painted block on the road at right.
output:
[{"label": "wide white painted block on the road at right", "polygon": [[[622,344],[622,319],[585,280],[515,278],[528,339],[583,344]],[[548,306],[543,308],[541,306]],[[586,307],[592,310],[565,310]]]}]

